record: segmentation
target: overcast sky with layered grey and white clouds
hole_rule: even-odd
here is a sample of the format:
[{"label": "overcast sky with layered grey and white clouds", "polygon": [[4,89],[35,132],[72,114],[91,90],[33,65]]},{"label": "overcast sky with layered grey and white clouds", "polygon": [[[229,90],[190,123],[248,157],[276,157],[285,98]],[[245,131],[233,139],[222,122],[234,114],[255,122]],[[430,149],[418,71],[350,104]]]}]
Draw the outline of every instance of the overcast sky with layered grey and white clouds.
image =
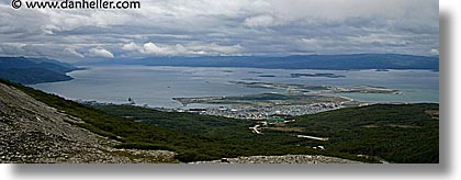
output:
[{"label": "overcast sky with layered grey and white clouds", "polygon": [[[24,0],[23,0],[24,1]],[[438,0],[140,0],[134,10],[14,10],[0,56],[438,55]]]}]

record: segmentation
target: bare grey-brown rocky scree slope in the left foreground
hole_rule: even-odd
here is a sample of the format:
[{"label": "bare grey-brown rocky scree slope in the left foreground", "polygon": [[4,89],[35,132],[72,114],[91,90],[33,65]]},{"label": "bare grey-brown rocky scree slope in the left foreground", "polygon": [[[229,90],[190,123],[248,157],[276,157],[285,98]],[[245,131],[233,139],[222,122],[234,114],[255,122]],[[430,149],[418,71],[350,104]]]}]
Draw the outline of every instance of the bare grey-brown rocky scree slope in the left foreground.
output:
[{"label": "bare grey-brown rocky scree slope in the left foreground", "polygon": [[173,162],[167,150],[120,144],[75,124],[81,120],[0,82],[0,162]]}]

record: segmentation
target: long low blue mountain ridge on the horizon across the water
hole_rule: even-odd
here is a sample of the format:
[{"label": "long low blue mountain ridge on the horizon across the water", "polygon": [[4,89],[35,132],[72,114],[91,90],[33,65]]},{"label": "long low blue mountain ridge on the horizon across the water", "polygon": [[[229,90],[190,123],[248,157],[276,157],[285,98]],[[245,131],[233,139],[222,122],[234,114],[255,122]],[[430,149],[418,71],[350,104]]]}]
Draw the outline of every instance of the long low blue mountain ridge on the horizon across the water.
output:
[{"label": "long low blue mountain ridge on the horizon across the water", "polygon": [[202,56],[116,59],[99,64],[185,67],[249,67],[269,69],[439,69],[438,56],[400,54],[299,55],[285,57]]}]

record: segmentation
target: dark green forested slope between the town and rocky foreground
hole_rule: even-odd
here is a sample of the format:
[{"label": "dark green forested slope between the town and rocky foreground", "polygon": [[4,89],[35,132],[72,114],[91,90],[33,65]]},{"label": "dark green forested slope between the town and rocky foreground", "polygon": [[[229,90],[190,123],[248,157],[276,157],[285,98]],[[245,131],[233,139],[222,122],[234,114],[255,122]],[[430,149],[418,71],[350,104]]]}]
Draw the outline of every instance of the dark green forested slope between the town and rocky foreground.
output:
[{"label": "dark green forested slope between the town and rocky foreground", "polygon": [[[263,146],[317,147],[329,153],[367,155],[391,162],[438,162],[438,104],[378,104],[347,108],[294,117],[286,124],[273,124],[255,136],[252,121],[170,113],[136,106],[98,109],[132,120],[167,127],[176,132]],[[297,135],[327,137],[327,142],[299,138]],[[263,142],[263,143],[261,143]],[[290,153],[289,154],[293,154]]]}]

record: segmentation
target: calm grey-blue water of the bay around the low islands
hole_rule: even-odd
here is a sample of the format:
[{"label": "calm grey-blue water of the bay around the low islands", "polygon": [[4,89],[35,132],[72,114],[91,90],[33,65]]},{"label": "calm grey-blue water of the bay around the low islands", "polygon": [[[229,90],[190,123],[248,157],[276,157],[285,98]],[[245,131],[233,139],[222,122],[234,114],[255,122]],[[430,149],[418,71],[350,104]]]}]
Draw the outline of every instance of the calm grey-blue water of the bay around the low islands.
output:
[{"label": "calm grey-blue water of the bay around the low islands", "polygon": [[[375,86],[397,89],[403,94],[340,93],[371,102],[439,102],[439,72],[430,70],[312,70],[312,69],[257,69],[166,66],[91,66],[69,72],[74,79],[47,82],[31,87],[71,100],[127,103],[151,108],[181,108],[172,98],[225,97],[281,90],[246,88],[229,81],[278,83],[314,83],[331,86]],[[345,76],[299,77],[291,74],[335,74]],[[331,94],[330,94],[331,95]],[[210,104],[191,104],[187,108],[205,108]]]}]

